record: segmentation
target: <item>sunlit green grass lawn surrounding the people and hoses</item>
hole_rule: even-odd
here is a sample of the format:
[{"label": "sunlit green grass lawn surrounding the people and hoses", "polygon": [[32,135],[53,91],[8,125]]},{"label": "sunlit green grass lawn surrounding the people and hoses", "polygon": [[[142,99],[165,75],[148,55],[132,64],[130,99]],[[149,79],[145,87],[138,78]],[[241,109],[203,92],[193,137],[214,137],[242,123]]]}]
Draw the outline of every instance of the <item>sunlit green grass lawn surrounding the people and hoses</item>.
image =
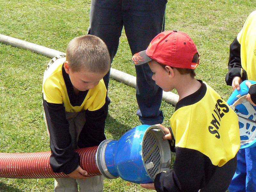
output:
[{"label": "sunlit green grass lawn surrounding the people and hoses", "polygon": [[[65,52],[68,42],[85,35],[89,26],[89,0],[2,0],[0,34]],[[254,0],[177,0],[166,7],[165,30],[188,33],[197,45],[197,78],[207,82],[225,100],[229,44],[255,10]],[[135,76],[132,55],[123,31],[112,68]],[[0,43],[0,152],[49,151],[42,110],[41,84],[50,58]],[[110,79],[111,99],[106,123],[107,139],[118,139],[140,124],[135,89]],[[174,106],[163,101],[164,125]],[[173,156],[174,160],[175,156]],[[53,179],[0,178],[0,191],[53,191]],[[120,178],[105,179],[104,191],[149,191]]]}]

